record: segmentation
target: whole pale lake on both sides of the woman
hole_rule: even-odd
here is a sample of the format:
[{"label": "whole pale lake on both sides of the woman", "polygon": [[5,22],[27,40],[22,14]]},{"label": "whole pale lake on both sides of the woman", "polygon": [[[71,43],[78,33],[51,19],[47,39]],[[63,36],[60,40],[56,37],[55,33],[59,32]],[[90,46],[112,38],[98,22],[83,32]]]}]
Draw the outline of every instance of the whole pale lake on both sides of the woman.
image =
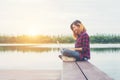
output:
[{"label": "whole pale lake on both sides of the woman", "polygon": [[[0,44],[0,70],[62,70],[59,47],[74,44]],[[92,64],[120,80],[120,44],[91,44]]]}]

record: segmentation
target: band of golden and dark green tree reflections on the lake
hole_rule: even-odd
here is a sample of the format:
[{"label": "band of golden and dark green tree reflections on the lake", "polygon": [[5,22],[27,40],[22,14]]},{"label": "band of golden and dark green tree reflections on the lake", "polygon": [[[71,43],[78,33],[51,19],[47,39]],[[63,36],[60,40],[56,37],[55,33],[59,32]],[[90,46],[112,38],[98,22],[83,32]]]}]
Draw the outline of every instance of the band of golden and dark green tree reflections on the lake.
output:
[{"label": "band of golden and dark green tree reflections on the lake", "polygon": [[[59,51],[58,48],[51,47],[34,47],[34,46],[0,46],[0,52],[17,51],[17,52],[49,52]],[[119,52],[120,48],[91,48],[93,52]]]}]

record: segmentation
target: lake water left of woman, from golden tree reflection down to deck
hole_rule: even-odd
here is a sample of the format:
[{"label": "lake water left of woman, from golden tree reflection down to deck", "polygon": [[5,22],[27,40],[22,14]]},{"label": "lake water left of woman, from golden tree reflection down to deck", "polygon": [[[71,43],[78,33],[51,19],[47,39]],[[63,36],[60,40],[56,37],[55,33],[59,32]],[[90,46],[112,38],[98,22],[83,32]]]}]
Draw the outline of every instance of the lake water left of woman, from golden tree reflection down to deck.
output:
[{"label": "lake water left of woman, from golden tree reflection down to deck", "polygon": [[62,63],[58,55],[58,48],[0,46],[0,70],[60,70]]}]

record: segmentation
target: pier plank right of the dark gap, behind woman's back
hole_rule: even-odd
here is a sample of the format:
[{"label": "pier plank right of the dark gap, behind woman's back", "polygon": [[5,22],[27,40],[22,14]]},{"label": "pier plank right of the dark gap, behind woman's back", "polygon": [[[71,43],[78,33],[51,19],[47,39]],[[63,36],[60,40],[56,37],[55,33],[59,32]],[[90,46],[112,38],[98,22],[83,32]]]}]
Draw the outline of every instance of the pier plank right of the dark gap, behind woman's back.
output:
[{"label": "pier plank right of the dark gap, behind woman's back", "polygon": [[77,62],[88,80],[113,80],[88,61]]}]

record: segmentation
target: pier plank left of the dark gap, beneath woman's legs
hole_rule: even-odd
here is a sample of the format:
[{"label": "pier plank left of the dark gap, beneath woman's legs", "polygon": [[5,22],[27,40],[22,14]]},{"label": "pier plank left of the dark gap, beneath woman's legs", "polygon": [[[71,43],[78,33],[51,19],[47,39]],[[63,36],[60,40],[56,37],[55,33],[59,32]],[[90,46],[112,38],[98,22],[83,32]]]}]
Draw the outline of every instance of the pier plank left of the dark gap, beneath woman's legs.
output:
[{"label": "pier plank left of the dark gap, beneath woman's legs", "polygon": [[75,62],[63,62],[61,80],[86,80]]}]

